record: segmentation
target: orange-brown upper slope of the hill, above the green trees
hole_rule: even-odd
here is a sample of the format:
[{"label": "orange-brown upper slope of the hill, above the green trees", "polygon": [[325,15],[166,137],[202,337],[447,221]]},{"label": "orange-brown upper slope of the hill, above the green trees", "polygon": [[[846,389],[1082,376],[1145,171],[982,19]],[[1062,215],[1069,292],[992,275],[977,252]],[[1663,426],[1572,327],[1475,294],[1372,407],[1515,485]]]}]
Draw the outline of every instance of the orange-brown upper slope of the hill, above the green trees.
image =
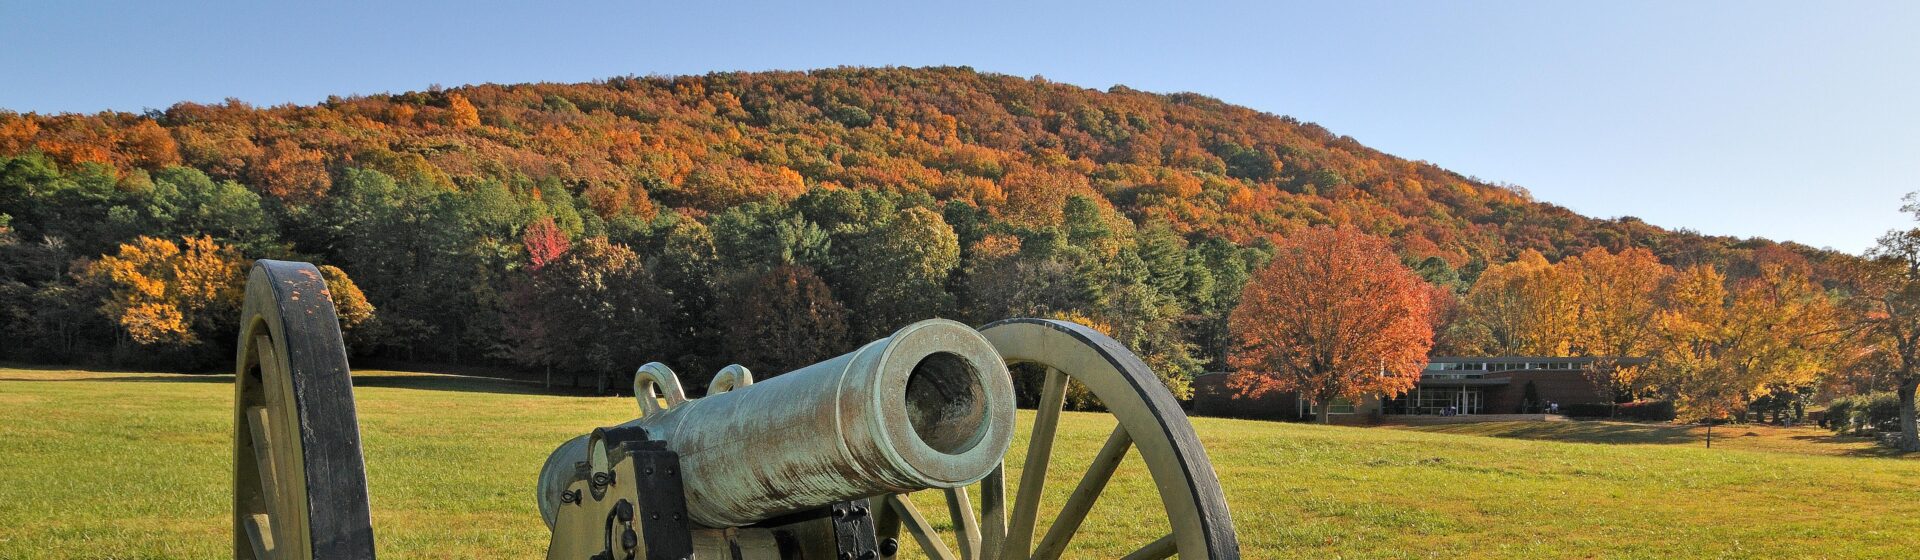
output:
[{"label": "orange-brown upper slope of the hill, above the green trees", "polygon": [[[453,98],[472,107],[470,121],[449,121]],[[248,130],[242,125],[261,119],[278,127]],[[19,121],[36,121],[38,134],[23,138]],[[1098,194],[1135,222],[1167,219],[1183,232],[1236,242],[1344,222],[1396,240],[1409,259],[1442,257],[1452,265],[1501,261],[1523,249],[1557,259],[1592,245],[1647,245],[1663,259],[1684,261],[1659,244],[1682,230],[1649,226],[1632,217],[1584,217],[1538,201],[1524,188],[1384,153],[1286,115],[1196,92],[1156,94],[1125,84],[1094,90],[968,67],[472,84],[330,96],[313,105],[175,104],[142,117],[13,113],[0,115],[6,123],[0,130],[10,130],[0,132],[0,153],[19,153],[35,144],[44,150],[48,140],[67,140],[75,150],[46,150],[65,165],[113,161],[140,167],[169,161],[163,153],[125,153],[165,152],[165,146],[75,130],[100,128],[100,123],[86,121],[125,127],[127,136],[142,132],[138,121],[154,121],[173,136],[180,163],[294,199],[324,194],[326,180],[313,178],[315,167],[324,173],[369,157],[419,155],[445,173],[447,182],[520,173],[534,180],[553,176],[574,182],[582,186],[576,194],[611,188],[636,203],[603,201],[599,209],[605,213],[647,213],[653,209],[639,201],[655,198],[668,207],[714,211],[837,184],[904,186],[996,211],[1010,203],[1037,203],[1041,213],[1052,217],[1058,190],[1068,190]],[[739,127],[745,138],[728,138],[718,130],[722,125]],[[328,128],[349,134],[336,138]],[[814,146],[787,150],[808,140]],[[768,148],[780,142],[785,146]],[[839,153],[808,153],[822,146],[852,148],[847,144],[854,142],[868,142],[854,152],[877,152],[881,157],[845,161]],[[315,150],[323,155],[313,157]],[[653,153],[636,153],[643,150]],[[493,169],[505,173],[490,173],[476,163],[509,165]],[[300,176],[303,169],[307,175]],[[1079,175],[1085,184],[1058,176],[1062,173]],[[979,184],[979,178],[995,184]],[[1048,184],[1060,180],[1069,184]],[[632,184],[641,184],[645,194],[636,194]],[[1054,192],[1037,192],[1048,188]],[[1014,199],[1006,201],[1006,196]],[[1421,198],[1432,203],[1421,203]],[[1006,213],[1039,219],[1018,207]],[[1761,242],[1701,238],[1720,245]]]}]

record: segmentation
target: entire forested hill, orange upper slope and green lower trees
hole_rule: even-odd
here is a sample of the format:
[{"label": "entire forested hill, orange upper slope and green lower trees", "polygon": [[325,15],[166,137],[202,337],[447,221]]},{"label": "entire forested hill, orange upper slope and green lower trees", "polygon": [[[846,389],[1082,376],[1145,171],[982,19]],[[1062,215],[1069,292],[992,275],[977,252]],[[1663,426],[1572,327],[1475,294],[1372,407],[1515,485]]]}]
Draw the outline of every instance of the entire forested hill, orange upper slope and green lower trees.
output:
[{"label": "entire forested hill, orange upper slope and green lower trees", "polygon": [[336,267],[359,355],[662,361],[703,387],[916,318],[1039,315],[1183,391],[1271,242],[1315,224],[1388,238],[1452,295],[1526,251],[1738,274],[1772,245],[1580,217],[1198,94],[966,67],[0,111],[0,357],[217,366],[246,263],[273,257]]}]

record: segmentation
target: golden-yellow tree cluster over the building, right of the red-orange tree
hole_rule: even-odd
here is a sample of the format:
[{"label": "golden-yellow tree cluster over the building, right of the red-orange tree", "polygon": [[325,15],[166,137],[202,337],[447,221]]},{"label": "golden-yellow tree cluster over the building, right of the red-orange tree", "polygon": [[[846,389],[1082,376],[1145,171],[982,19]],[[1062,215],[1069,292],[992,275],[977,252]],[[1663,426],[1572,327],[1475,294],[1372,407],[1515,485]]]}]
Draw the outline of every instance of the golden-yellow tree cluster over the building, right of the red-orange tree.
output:
[{"label": "golden-yellow tree cluster over the building, right of the red-orange tree", "polygon": [[[1672,399],[1682,418],[1741,418],[1763,397],[1799,401],[1849,349],[1837,301],[1793,253],[1751,270],[1684,270],[1645,249],[1588,249],[1496,265],[1448,326],[1467,355],[1588,357],[1609,397]],[[1837,282],[1837,278],[1836,278]]]}]

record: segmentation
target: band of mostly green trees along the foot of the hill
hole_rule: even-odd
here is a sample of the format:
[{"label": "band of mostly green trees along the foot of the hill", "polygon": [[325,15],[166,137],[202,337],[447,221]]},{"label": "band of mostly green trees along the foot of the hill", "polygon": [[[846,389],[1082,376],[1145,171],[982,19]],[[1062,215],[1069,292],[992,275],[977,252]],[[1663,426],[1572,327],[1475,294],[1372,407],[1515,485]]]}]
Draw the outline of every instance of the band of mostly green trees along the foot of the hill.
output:
[{"label": "band of mostly green trees along the foot of the hill", "polygon": [[555,184],[445,190],[342,169],[328,198],[278,207],[186,167],[138,180],[0,159],[8,357],[211,368],[230,359],[250,257],[321,257],[357,355],[593,376],[662,361],[701,385],[730,362],[778,374],[920,318],[1075,316],[1185,393],[1208,362],[1194,341],[1219,338],[1265,259],[1079,196],[1058,224],[1025,228],[879,190],[588,221]]}]

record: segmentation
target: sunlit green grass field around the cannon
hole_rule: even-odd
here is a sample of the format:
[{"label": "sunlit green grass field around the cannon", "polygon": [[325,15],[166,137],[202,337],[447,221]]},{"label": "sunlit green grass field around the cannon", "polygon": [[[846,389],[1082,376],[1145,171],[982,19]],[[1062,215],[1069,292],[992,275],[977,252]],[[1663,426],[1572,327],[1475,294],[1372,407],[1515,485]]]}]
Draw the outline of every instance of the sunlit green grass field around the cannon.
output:
[{"label": "sunlit green grass field around the cannon", "polygon": [[[540,462],[634,416],[632,399],[478,378],[357,372],[355,385],[384,558],[540,558]],[[228,556],[230,407],[228,376],[0,368],[0,558]],[[1056,479],[1077,476],[1110,426],[1068,414]],[[1709,451],[1684,428],[1605,422],[1196,426],[1246,558],[1920,550],[1920,460],[1816,430],[1724,428],[1734,437]],[[1123,466],[1069,556],[1112,558],[1164,533],[1154,510],[1144,468]]]}]

